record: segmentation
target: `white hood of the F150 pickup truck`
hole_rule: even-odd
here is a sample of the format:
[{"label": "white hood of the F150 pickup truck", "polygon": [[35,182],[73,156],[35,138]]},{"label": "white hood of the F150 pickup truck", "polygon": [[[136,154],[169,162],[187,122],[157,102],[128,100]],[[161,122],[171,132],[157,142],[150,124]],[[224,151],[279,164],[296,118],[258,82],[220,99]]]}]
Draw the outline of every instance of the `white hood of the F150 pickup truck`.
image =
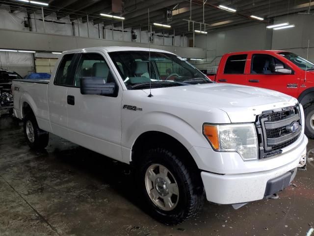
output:
[{"label": "white hood of the F150 pickup truck", "polygon": [[[149,89],[144,90],[149,94]],[[269,89],[234,84],[204,84],[153,89],[155,99],[192,103],[226,112],[231,122],[254,122],[262,111],[294,106],[297,100]]]}]

